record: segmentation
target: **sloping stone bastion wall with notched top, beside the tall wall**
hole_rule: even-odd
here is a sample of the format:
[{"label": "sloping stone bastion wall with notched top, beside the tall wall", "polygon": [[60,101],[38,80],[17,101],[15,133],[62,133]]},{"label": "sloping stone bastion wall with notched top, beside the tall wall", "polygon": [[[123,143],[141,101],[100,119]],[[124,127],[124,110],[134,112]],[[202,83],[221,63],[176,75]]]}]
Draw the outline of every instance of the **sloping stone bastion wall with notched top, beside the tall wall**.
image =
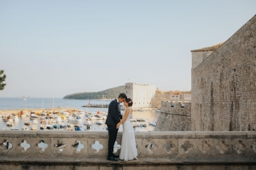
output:
[{"label": "sloping stone bastion wall with notched top, beside the tall wall", "polygon": [[[174,107],[171,107],[172,103]],[[160,116],[154,131],[191,130],[191,103],[184,103],[184,108],[181,108],[181,102],[176,101],[163,101],[161,105]]]}]

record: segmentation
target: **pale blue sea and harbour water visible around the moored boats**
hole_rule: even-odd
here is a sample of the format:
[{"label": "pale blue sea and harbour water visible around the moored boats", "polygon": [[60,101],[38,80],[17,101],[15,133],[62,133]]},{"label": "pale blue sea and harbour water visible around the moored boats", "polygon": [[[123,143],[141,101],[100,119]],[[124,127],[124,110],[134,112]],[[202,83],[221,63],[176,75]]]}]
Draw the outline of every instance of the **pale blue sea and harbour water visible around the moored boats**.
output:
[{"label": "pale blue sea and harbour water visible around the moored boats", "polygon": [[[35,109],[44,109],[45,111],[52,111],[54,108],[74,108],[78,110],[90,111],[92,113],[96,113],[97,111],[103,111],[108,113],[108,108],[95,108],[95,107],[83,107],[83,105],[106,105],[109,104],[111,100],[99,100],[99,99],[61,99],[61,98],[0,98],[0,114],[4,111],[22,111],[24,109],[35,110]],[[132,111],[131,118],[132,119],[146,119],[146,122],[132,122],[132,123],[141,123],[146,125],[146,127],[142,127],[142,131],[154,131],[154,126],[148,124],[148,122],[157,122],[159,117],[159,112],[154,111]],[[86,130],[84,126],[84,121],[86,116],[81,117],[82,121],[79,126],[82,131]],[[39,122],[39,121],[38,121]],[[32,121],[31,121],[32,123]],[[21,118],[19,122],[15,122],[15,127],[18,130],[21,130],[24,126],[24,120]],[[0,130],[6,129],[6,122],[3,122],[3,119],[0,118]],[[38,130],[40,130],[40,123],[38,123]],[[54,129],[59,130],[59,129]],[[106,125],[97,125],[96,122],[92,122],[91,131],[105,131]],[[120,126],[119,131],[122,130]]]}]

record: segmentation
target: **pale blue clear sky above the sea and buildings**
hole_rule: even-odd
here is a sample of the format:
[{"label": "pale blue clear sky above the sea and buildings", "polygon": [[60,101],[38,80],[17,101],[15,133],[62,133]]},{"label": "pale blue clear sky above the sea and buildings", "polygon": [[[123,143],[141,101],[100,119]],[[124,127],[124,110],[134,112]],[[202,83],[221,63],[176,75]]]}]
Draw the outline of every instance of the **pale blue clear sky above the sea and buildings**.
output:
[{"label": "pale blue clear sky above the sea and buildings", "polygon": [[0,0],[0,97],[96,92],[125,82],[191,90],[191,52],[226,41],[255,0]]}]

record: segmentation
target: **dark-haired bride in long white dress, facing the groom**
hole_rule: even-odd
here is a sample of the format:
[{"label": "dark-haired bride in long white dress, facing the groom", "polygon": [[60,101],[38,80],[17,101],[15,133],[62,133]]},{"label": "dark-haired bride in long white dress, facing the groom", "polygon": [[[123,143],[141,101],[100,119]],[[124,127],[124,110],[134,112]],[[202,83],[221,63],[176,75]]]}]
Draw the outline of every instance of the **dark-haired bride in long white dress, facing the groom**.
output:
[{"label": "dark-haired bride in long white dress, facing the groom", "polygon": [[123,115],[123,119],[116,125],[116,128],[119,129],[119,125],[123,123],[123,136],[119,159],[125,161],[137,159],[134,130],[130,121],[132,104],[130,98],[124,102],[126,106],[125,114]]}]

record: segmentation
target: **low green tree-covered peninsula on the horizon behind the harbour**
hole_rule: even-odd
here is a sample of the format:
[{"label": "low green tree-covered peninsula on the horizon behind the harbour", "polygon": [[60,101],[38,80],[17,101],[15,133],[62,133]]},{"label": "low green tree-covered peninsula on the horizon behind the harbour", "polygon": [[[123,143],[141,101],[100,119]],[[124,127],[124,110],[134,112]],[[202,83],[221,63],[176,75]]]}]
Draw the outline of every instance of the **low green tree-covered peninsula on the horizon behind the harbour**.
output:
[{"label": "low green tree-covered peninsula on the horizon behind the harbour", "polygon": [[81,92],[77,94],[67,94],[63,99],[114,99],[120,93],[124,93],[125,86],[108,88],[100,92]]}]

